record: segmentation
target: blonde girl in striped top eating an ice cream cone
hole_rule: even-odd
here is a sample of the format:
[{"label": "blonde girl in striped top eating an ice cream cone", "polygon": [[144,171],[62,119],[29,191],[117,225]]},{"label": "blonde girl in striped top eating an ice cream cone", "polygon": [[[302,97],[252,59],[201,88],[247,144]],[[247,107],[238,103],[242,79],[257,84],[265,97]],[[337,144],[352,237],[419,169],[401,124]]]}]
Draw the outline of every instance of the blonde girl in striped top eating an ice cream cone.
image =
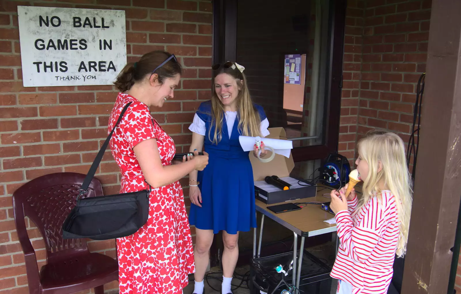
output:
[{"label": "blonde girl in striped top eating an ice cream cone", "polygon": [[408,239],[412,191],[405,148],[399,136],[372,131],[358,152],[361,200],[354,190],[346,199],[347,185],[331,192],[340,240],[331,277],[338,279],[338,294],[386,294],[395,254],[405,254]]}]

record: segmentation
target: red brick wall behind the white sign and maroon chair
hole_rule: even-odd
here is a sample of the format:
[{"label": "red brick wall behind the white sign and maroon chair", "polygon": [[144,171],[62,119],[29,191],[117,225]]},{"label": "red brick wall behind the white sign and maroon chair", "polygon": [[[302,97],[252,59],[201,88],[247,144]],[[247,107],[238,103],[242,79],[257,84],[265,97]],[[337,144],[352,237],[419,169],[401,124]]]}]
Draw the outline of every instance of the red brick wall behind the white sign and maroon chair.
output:
[{"label": "red brick wall behind the white sign and maroon chair", "polygon": [[[24,182],[44,174],[86,174],[106,137],[108,115],[117,96],[112,86],[24,88],[18,5],[125,10],[128,61],[156,49],[174,53],[184,67],[182,83],[175,98],[163,108],[153,109],[153,116],[172,135],[178,151],[189,151],[188,125],[200,100],[210,95],[211,0],[1,1],[0,294],[28,293],[24,257],[13,220],[12,193]],[[108,152],[96,174],[105,194],[118,193],[118,174],[118,166]],[[46,262],[44,245],[34,227],[30,224],[29,235],[42,265]],[[89,248],[115,257],[113,240],[90,241]],[[116,282],[105,288],[118,293]]]}]

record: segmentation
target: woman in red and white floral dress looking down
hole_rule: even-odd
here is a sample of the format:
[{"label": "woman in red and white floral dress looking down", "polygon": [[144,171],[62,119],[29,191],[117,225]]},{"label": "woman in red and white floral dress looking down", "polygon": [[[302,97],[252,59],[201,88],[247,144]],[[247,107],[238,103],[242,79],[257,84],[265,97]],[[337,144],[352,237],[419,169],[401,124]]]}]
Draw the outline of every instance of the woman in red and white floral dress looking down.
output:
[{"label": "woman in red and white floral dress looking down", "polygon": [[147,223],[135,234],[117,239],[120,294],[181,294],[188,274],[195,270],[178,180],[191,171],[203,170],[208,156],[195,153],[171,165],[174,142],[149,110],[173,98],[180,75],[181,65],[174,55],[154,51],[126,65],[114,82],[121,93],[109,118],[109,131],[131,102],[110,141],[122,173],[120,193],[146,189],[148,184],[152,187]]}]

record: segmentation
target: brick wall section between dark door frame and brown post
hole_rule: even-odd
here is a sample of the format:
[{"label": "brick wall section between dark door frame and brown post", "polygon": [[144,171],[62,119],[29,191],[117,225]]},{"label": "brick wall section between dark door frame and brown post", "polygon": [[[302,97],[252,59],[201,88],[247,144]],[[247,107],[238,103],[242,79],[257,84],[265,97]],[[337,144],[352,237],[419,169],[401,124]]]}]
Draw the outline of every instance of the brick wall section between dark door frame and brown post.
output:
[{"label": "brick wall section between dark door frame and brown post", "polygon": [[431,0],[348,1],[339,150],[349,159],[369,129],[408,142],[430,18]]}]

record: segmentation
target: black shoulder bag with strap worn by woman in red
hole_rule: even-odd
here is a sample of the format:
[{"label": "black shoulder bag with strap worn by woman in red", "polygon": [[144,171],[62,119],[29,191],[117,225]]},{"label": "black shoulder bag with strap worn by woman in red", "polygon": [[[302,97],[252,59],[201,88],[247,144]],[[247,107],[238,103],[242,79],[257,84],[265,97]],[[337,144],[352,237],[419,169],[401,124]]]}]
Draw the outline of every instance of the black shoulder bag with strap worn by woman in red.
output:
[{"label": "black shoulder bag with strap worn by woman in red", "polygon": [[138,192],[81,198],[88,192],[89,183],[95,176],[112,133],[130,104],[131,102],[123,108],[117,123],[107,136],[83,181],[80,194],[77,196],[77,206],[72,209],[63,223],[63,239],[108,240],[125,237],[134,234],[147,222],[151,191],[149,184],[146,190]]}]

